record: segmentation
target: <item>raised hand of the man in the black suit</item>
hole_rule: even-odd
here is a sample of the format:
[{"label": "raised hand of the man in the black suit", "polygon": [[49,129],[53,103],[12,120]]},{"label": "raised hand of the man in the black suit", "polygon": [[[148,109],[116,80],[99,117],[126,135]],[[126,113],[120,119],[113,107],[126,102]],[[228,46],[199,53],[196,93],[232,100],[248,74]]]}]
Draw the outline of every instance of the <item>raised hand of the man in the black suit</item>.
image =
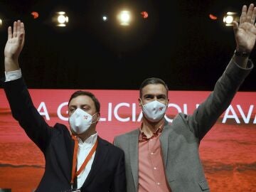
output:
[{"label": "raised hand of the man in the black suit", "polygon": [[18,66],[18,56],[25,42],[25,28],[24,23],[21,21],[14,22],[13,31],[11,31],[11,26],[8,28],[8,40],[4,48],[4,63],[6,71],[17,70]]}]

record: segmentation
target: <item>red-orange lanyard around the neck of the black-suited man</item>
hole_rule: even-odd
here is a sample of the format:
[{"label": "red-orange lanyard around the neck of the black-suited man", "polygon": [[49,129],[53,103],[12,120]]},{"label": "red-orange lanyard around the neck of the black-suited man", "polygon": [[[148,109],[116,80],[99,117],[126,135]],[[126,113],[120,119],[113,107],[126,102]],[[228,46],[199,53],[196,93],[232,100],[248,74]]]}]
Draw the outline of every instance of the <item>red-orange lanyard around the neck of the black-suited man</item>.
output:
[{"label": "red-orange lanyard around the neck of the black-suited man", "polygon": [[90,150],[90,153],[87,155],[85,161],[82,163],[82,166],[80,166],[80,169],[78,171],[75,171],[75,168],[78,164],[78,161],[77,161],[78,160],[78,139],[73,135],[72,135],[72,139],[75,142],[75,147],[74,147],[74,154],[73,154],[72,178],[70,181],[71,185],[73,185],[75,177],[79,176],[82,170],[85,169],[85,166],[90,161],[90,159],[92,158],[92,155],[96,151],[97,143],[98,143],[98,141],[96,140],[95,144],[92,146],[92,149]]}]

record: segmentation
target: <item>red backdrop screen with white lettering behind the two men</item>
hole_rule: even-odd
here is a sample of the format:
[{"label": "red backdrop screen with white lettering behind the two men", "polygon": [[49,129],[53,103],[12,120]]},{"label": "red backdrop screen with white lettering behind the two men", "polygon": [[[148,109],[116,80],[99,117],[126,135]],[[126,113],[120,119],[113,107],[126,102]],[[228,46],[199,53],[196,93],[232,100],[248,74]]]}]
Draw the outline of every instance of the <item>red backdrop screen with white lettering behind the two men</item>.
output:
[{"label": "red backdrop screen with white lettering behind the two men", "polygon": [[[75,90],[29,90],[46,122],[66,124],[67,102]],[[90,90],[101,103],[97,124],[100,137],[135,129],[141,110],[137,90]],[[177,112],[191,114],[210,92],[170,91],[166,119]],[[211,191],[256,191],[256,92],[238,92],[232,104],[201,142],[200,154]],[[4,90],[0,89],[0,188],[33,191],[41,180],[44,159],[11,116]]]}]

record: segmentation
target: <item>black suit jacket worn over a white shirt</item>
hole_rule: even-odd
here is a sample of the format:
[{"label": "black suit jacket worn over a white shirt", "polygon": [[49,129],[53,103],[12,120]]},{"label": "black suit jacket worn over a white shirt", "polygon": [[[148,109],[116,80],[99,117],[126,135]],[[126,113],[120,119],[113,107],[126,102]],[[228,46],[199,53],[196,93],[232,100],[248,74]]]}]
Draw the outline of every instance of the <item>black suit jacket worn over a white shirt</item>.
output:
[{"label": "black suit jacket worn over a white shirt", "polygon": [[[74,141],[68,128],[64,124],[50,127],[46,123],[33,106],[22,78],[4,82],[4,90],[14,118],[41,149],[46,160],[45,173],[36,191],[70,189]],[[81,191],[126,191],[124,152],[99,137],[92,169]]]}]

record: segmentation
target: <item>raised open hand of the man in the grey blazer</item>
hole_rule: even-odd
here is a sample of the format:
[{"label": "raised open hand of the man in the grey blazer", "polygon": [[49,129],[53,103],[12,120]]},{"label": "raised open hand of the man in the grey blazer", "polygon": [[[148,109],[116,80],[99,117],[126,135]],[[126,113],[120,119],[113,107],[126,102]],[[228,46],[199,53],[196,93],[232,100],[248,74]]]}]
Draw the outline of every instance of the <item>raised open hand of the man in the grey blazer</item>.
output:
[{"label": "raised open hand of the man in the grey blazer", "polygon": [[247,6],[242,6],[242,14],[240,16],[240,23],[234,21],[235,41],[237,43],[236,50],[239,52],[250,53],[255,46],[256,41],[256,7],[250,4],[248,10]]}]

